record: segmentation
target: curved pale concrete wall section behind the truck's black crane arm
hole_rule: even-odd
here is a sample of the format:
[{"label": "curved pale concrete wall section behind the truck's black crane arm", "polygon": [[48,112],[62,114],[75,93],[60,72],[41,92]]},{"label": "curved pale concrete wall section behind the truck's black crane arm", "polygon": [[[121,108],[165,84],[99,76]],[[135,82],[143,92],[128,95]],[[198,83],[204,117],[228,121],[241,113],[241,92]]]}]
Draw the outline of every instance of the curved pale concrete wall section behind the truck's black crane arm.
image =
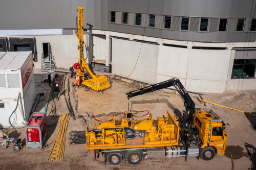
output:
[{"label": "curved pale concrete wall section behind the truck's black crane arm", "polygon": [[[129,76],[140,46],[141,42],[113,38],[112,73]],[[176,77],[189,91],[219,93],[226,89],[230,57],[231,50],[197,50],[142,43],[138,63],[129,78],[153,84]],[[228,87],[233,88],[232,85]]]}]

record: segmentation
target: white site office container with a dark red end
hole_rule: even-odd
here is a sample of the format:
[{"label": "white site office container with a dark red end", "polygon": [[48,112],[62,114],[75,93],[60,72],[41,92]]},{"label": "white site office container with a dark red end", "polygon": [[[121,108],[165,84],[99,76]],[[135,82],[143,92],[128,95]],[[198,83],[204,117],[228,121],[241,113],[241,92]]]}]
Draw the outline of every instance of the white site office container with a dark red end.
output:
[{"label": "white site office container with a dark red end", "polygon": [[[21,100],[18,100],[19,92]],[[0,127],[10,127],[9,118],[14,127],[25,126],[34,99],[35,82],[32,52],[0,54]],[[18,107],[12,114],[17,102]]]}]

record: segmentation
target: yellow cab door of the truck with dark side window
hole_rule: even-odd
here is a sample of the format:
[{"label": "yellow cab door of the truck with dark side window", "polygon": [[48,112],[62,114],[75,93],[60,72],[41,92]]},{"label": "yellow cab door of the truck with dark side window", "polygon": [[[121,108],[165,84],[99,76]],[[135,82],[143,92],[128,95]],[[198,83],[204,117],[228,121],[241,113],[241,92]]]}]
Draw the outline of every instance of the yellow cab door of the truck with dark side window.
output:
[{"label": "yellow cab door of the truck with dark side window", "polygon": [[[224,154],[225,151],[225,130],[223,131],[221,127],[212,127],[211,137],[210,137],[210,145],[216,145],[217,155]],[[226,134],[226,133],[225,133]]]}]

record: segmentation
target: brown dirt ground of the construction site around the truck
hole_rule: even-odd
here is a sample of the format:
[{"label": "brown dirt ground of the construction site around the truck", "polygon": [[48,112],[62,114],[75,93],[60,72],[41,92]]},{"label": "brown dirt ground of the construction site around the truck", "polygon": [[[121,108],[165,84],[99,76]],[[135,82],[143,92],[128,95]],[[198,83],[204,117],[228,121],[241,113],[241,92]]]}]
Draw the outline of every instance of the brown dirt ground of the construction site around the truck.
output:
[{"label": "brown dirt ground of the construction site around the truck", "polygon": [[[63,76],[56,77],[58,84]],[[65,89],[67,89],[69,78],[66,78]],[[74,80],[74,78],[70,79],[70,85]],[[141,86],[138,83],[123,82],[119,78],[111,79],[111,84],[111,88],[104,90],[103,94],[101,91],[85,91],[84,86],[79,88],[71,86],[70,98],[76,120],[70,118],[68,133],[71,130],[85,130],[87,122],[89,122],[89,126],[92,126],[93,113],[95,117],[112,117],[113,114],[127,110],[128,101],[125,93]],[[224,122],[230,125],[226,126],[227,148],[225,155],[216,156],[211,161],[198,160],[195,157],[188,157],[187,161],[184,158],[147,158],[138,165],[122,161],[118,166],[113,166],[108,162],[104,164],[101,155],[99,159],[95,160],[93,150],[87,150],[86,144],[70,145],[67,134],[64,161],[46,162],[57,136],[60,114],[68,113],[63,96],[64,91],[61,92],[60,101],[55,99],[52,91],[47,110],[48,134],[44,149],[23,148],[18,153],[13,151],[12,145],[6,150],[1,147],[0,169],[231,169],[230,155],[234,159],[234,169],[256,169],[256,132],[249,127],[251,124],[256,125],[256,117],[210,104],[207,104],[206,108],[214,109]],[[198,95],[190,93],[190,96],[193,98]],[[256,113],[256,90],[204,93],[203,98],[206,101],[234,109]],[[195,98],[193,100],[196,103],[196,108],[204,108],[204,105]],[[174,90],[159,90],[130,99],[130,110],[149,110],[155,119],[165,115],[166,110],[172,110],[173,113],[181,116],[180,110],[182,109],[184,109],[183,102]],[[79,119],[77,115],[82,115],[84,119]],[[121,117],[122,114],[119,114],[116,118],[121,119]],[[24,130],[25,128],[8,129],[7,131],[10,137],[22,138],[25,141]]]}]

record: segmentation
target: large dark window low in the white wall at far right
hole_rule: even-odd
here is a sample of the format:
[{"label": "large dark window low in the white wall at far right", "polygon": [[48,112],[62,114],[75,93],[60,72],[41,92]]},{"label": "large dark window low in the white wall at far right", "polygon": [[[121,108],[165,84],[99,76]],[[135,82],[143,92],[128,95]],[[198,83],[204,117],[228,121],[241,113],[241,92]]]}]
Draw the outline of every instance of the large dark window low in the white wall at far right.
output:
[{"label": "large dark window low in the white wall at far right", "polygon": [[254,78],[256,59],[235,59],[231,79]]}]

